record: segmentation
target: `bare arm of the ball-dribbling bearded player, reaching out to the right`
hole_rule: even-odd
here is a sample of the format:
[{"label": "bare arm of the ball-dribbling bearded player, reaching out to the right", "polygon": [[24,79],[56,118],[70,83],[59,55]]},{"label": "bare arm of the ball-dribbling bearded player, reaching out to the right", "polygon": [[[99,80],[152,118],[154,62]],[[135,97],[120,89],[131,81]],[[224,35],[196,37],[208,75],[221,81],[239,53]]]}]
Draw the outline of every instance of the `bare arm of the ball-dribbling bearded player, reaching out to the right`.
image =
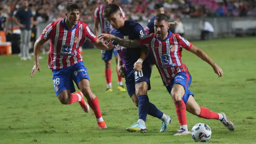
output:
[{"label": "bare arm of the ball-dribbling bearded player, reaching out to the right", "polygon": [[207,62],[209,65],[211,65],[214,72],[219,77],[222,77],[223,75],[222,69],[216,63],[214,63],[212,59],[203,50],[193,45],[189,51],[197,55],[198,57],[200,57],[203,61]]}]

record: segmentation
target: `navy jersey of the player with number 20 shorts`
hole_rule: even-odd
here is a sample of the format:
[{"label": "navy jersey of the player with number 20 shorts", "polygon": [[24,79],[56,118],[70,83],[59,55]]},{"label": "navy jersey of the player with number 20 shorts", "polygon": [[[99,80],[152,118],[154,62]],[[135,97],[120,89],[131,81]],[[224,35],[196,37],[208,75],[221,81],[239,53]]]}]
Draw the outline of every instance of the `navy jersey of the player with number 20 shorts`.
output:
[{"label": "navy jersey of the player with number 20 shorts", "polygon": [[[137,22],[133,20],[126,20],[123,27],[112,30],[110,33],[114,36],[119,38],[129,39],[129,40],[136,40],[140,39],[146,35],[144,28]],[[129,77],[131,75],[130,71],[133,70],[134,63],[140,58],[141,49],[138,48],[125,48],[117,44],[114,40],[112,40],[117,53],[122,59],[123,65],[125,67],[126,76]],[[147,57],[142,64],[143,67],[150,67],[149,57]]]}]

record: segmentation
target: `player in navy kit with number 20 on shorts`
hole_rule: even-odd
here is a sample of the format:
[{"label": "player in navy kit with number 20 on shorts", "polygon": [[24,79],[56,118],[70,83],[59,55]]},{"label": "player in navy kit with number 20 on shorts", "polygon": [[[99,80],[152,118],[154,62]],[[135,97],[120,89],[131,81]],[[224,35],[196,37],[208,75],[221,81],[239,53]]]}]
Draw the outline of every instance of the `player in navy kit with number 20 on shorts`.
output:
[{"label": "player in navy kit with number 20 on shorts", "polygon": [[[103,16],[113,26],[115,30],[111,34],[129,40],[135,40],[145,36],[144,28],[137,22],[132,20],[124,20],[122,13],[116,4],[109,4],[105,7]],[[160,132],[164,132],[168,128],[168,124],[172,118],[156,108],[149,102],[147,90],[150,90],[151,67],[149,58],[146,57],[147,52],[141,49],[127,49],[113,41],[114,48],[117,50],[117,70],[121,77],[125,77],[127,91],[133,102],[139,107],[139,120],[126,130],[130,132],[139,131],[146,132],[146,116],[147,114],[162,120]],[[135,63],[143,63],[137,69]],[[137,69],[137,71],[135,71]]]}]

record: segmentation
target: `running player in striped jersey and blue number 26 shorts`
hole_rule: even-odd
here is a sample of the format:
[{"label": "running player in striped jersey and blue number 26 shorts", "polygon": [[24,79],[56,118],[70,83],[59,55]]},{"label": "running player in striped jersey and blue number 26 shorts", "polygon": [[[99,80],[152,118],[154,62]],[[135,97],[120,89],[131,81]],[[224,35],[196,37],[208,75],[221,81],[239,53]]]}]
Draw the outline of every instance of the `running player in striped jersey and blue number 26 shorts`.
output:
[{"label": "running player in striped jersey and blue number 26 shorts", "polygon": [[[98,98],[90,89],[90,79],[79,48],[86,40],[101,50],[111,49],[113,45],[112,43],[106,45],[98,40],[87,24],[78,21],[81,9],[78,3],[67,3],[65,8],[66,18],[49,24],[36,41],[34,67],[30,76],[32,77],[37,70],[40,72],[40,49],[46,41],[51,39],[48,66],[49,69],[52,69],[52,79],[57,98],[62,104],[72,104],[78,101],[84,112],[89,112],[89,104],[96,116],[98,127],[100,129],[107,128],[100,112]],[[76,94],[73,94],[76,91],[73,81],[81,90]]]}]

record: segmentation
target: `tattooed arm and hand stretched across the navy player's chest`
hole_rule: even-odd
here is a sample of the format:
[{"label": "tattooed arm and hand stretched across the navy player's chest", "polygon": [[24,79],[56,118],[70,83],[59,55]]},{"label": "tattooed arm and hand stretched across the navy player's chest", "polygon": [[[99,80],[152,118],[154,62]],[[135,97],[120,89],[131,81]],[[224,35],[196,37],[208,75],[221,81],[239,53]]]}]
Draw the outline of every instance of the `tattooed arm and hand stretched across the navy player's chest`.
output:
[{"label": "tattooed arm and hand stretched across the navy player's chest", "polygon": [[139,43],[139,40],[128,40],[128,39],[118,38],[112,34],[100,34],[98,38],[100,40],[102,38],[105,38],[106,39],[105,41],[114,40],[117,44],[125,48],[142,48],[141,44]]}]

